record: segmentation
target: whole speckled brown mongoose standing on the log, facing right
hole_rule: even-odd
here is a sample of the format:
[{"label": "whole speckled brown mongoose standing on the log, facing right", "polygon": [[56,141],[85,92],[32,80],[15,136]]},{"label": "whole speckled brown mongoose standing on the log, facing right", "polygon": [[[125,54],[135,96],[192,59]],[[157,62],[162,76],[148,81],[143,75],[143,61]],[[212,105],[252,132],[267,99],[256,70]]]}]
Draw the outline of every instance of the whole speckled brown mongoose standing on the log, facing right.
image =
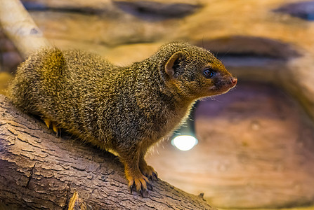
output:
[{"label": "whole speckled brown mongoose standing on the log, facing right", "polygon": [[56,132],[60,127],[119,155],[129,187],[143,195],[157,178],[144,159],[148,148],[180,125],[195,100],[236,83],[211,52],[188,43],[168,43],[129,66],[48,48],[19,66],[9,94]]}]

